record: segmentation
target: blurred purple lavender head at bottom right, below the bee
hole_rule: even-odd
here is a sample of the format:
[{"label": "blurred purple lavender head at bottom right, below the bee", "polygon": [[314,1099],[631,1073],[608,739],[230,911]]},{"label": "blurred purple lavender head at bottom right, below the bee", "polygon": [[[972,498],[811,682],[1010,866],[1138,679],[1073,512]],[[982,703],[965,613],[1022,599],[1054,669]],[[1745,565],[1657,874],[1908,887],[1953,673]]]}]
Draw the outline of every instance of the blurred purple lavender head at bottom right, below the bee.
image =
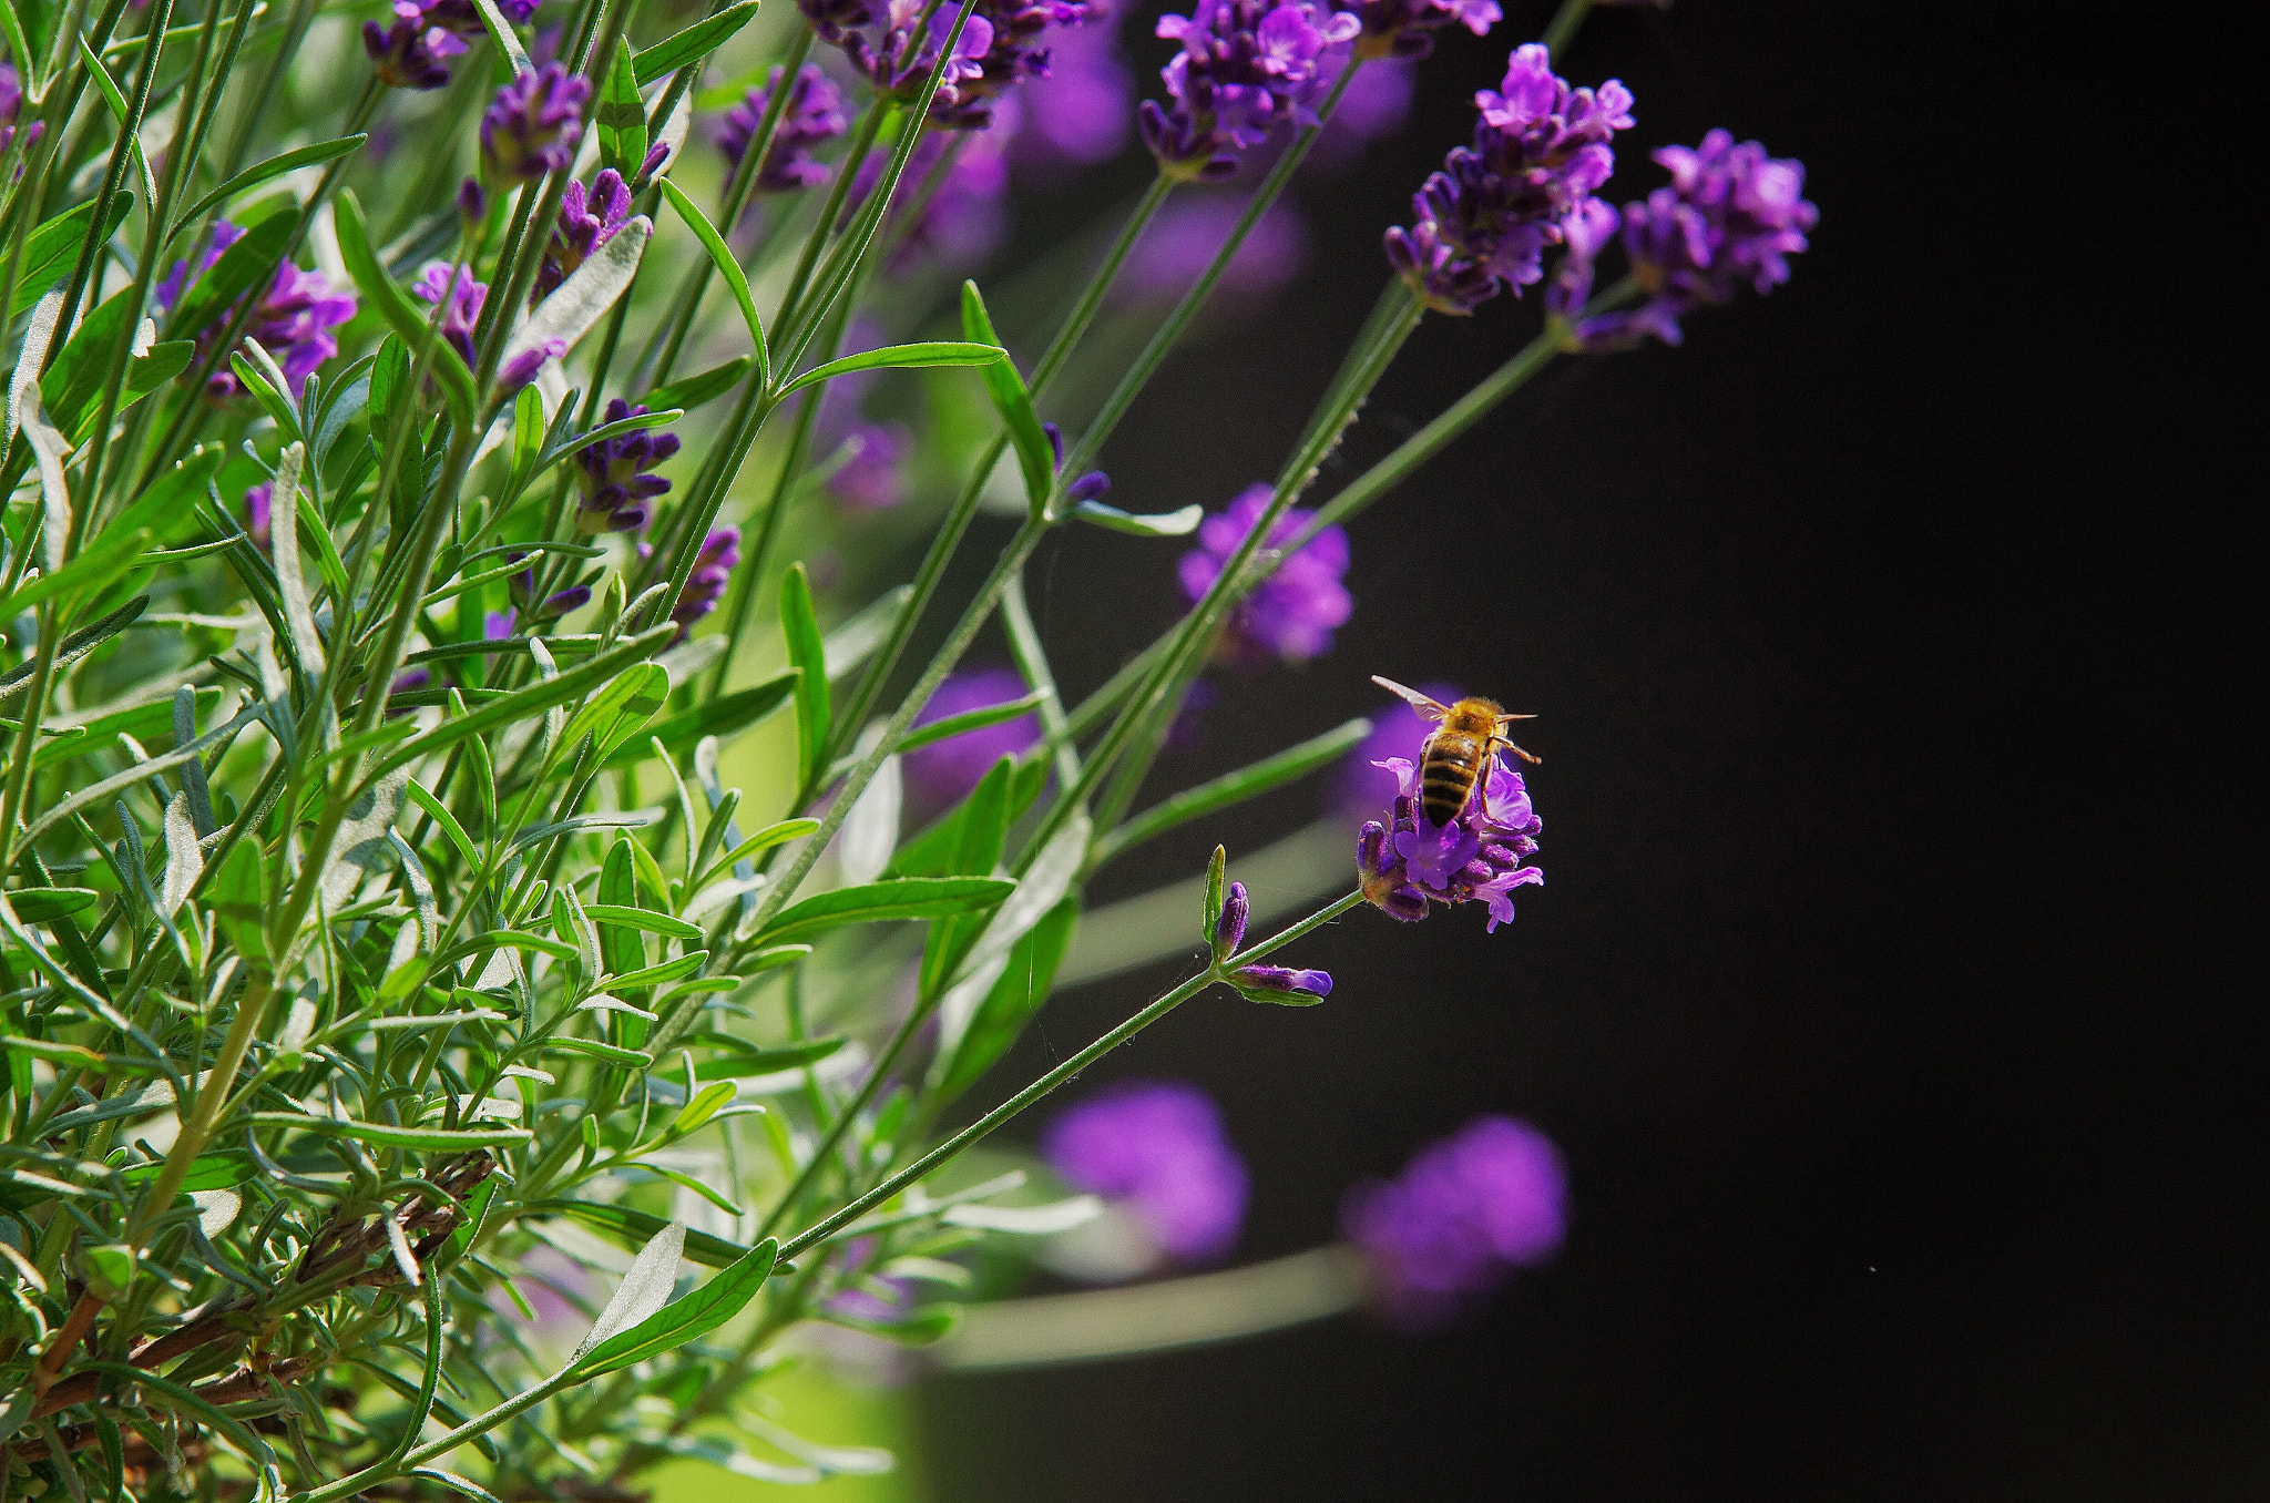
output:
[{"label": "blurred purple lavender head at bottom right, below the bee", "polygon": [[1401,1178],[1353,1185],[1339,1226],[1364,1253],[1380,1315],[1430,1330],[1553,1256],[1569,1231],[1569,1169],[1535,1126],[1476,1117]]}]

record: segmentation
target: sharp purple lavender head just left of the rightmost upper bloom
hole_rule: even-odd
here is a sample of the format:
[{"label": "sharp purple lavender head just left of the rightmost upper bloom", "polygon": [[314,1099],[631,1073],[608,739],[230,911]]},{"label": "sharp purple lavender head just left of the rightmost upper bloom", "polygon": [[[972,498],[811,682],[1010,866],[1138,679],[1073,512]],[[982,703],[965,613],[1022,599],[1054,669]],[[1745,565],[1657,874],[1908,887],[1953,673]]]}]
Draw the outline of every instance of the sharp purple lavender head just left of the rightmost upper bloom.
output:
[{"label": "sharp purple lavender head just left of the rightmost upper bloom", "polygon": [[1632,125],[1630,91],[1555,77],[1544,48],[1516,48],[1496,91],[1473,95],[1482,120],[1412,195],[1416,220],[1387,232],[1387,259],[1441,313],[1471,313],[1510,286],[1544,277],[1546,245],[1564,238],[1616,168],[1609,141]]}]

